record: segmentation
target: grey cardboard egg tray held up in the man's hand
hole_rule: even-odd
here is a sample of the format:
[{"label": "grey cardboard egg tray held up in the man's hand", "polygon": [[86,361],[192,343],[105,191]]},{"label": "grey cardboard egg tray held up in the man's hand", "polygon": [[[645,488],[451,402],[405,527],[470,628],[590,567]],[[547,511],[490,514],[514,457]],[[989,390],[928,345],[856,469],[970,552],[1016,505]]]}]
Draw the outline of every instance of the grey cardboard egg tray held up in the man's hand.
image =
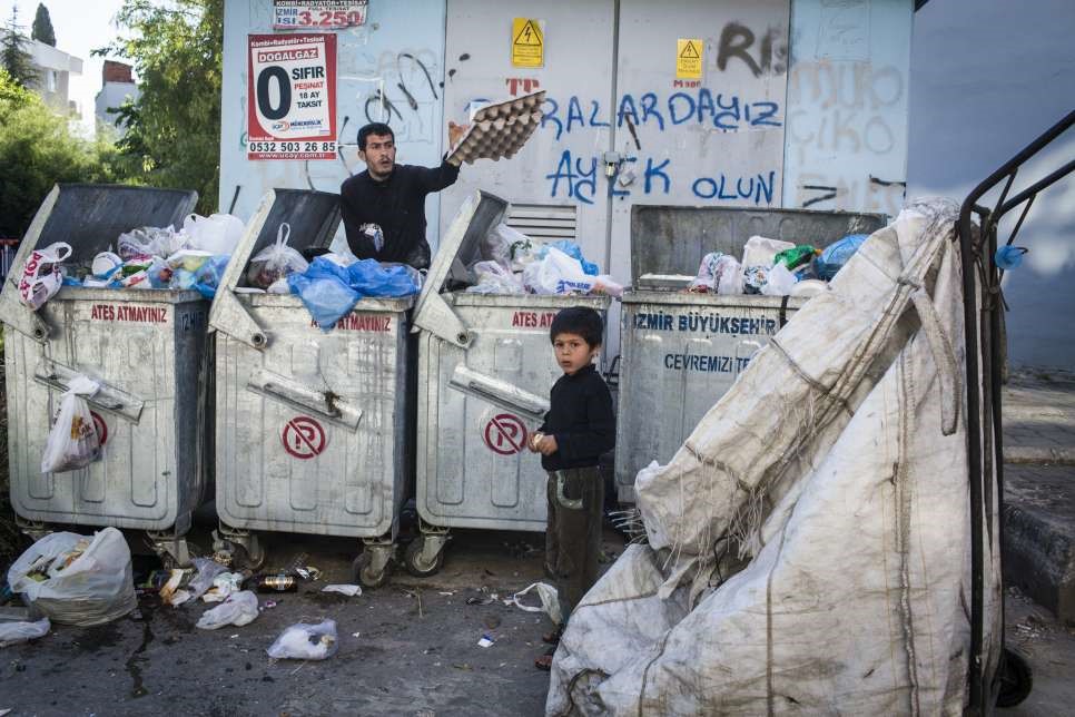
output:
[{"label": "grey cardboard egg tray held up in the man's hand", "polygon": [[448,159],[469,165],[475,159],[511,159],[541,125],[544,101],[545,91],[539,90],[481,108]]}]

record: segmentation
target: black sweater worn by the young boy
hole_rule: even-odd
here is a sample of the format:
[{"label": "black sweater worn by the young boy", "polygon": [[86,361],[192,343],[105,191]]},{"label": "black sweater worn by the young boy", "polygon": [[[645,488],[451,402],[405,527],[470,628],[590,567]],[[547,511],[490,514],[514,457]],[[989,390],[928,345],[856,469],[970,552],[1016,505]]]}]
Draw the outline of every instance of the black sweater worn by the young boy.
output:
[{"label": "black sweater worn by the young boy", "polygon": [[549,413],[538,430],[556,438],[556,452],[541,456],[546,471],[596,465],[601,454],[615,446],[612,394],[593,364],[553,384]]}]

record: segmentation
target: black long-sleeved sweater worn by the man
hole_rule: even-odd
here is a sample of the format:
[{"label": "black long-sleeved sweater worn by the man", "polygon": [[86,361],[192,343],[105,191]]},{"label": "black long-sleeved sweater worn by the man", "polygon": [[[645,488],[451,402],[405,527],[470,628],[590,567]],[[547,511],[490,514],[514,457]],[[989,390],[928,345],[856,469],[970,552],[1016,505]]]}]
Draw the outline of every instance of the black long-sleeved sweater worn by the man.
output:
[{"label": "black long-sleeved sweater worn by the man", "polygon": [[[339,210],[351,251],[361,259],[428,268],[425,196],[455,184],[458,176],[460,168],[444,161],[436,168],[396,165],[384,181],[375,180],[368,170],[344,181]],[[384,246],[379,252],[373,239],[358,230],[363,224],[381,226]]]}]

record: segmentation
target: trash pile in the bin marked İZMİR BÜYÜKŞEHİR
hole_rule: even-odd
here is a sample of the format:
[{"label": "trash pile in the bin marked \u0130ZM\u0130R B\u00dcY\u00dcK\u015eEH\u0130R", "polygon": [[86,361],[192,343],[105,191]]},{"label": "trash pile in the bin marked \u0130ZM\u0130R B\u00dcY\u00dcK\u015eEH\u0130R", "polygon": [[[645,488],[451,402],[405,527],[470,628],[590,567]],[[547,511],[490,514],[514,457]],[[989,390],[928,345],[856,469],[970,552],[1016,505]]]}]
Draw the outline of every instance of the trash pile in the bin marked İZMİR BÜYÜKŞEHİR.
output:
[{"label": "trash pile in the bin marked \u0130ZM\u0130R B\u00dcY\u00dcK\u015eEH\u0130R", "polygon": [[827,282],[866,239],[865,234],[849,234],[820,249],[810,244],[795,245],[752,236],[743,246],[741,262],[721,252],[703,256],[698,275],[687,291],[721,295],[816,296],[827,289]]}]

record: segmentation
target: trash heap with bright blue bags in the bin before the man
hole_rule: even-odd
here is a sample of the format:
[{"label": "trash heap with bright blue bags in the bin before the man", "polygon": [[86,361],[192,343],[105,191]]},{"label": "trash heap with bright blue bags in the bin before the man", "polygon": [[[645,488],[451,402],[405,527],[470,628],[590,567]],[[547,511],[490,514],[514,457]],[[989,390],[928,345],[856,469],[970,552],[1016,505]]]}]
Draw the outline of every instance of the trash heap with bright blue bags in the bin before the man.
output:
[{"label": "trash heap with bright blue bags in the bin before the man", "polygon": [[290,226],[280,224],[276,243],[250,259],[244,294],[296,294],[323,330],[351,313],[362,298],[400,298],[422,291],[422,274],[405,264],[322,254],[312,262],[288,246]]}]

